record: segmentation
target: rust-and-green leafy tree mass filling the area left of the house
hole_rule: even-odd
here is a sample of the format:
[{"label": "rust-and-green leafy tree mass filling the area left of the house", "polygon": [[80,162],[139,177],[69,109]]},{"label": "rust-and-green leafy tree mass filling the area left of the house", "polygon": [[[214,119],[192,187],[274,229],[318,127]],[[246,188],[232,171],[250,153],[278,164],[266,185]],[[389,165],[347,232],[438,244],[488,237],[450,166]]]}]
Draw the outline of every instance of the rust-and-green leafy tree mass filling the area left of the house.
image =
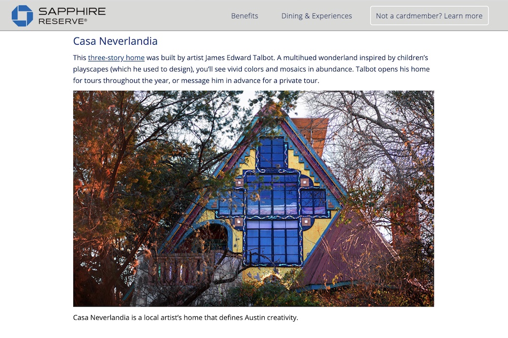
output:
[{"label": "rust-and-green leafy tree mass filling the area left of the house", "polygon": [[141,247],[160,242],[247,133],[240,91],[74,93],[75,305],[112,305]]}]

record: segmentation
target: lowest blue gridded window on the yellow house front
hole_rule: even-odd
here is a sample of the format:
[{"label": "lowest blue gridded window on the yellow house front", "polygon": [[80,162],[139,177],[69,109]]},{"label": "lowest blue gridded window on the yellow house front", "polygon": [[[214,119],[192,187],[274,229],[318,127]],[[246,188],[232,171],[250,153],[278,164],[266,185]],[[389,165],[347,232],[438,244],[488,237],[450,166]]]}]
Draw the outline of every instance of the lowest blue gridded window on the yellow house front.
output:
[{"label": "lowest blue gridded window on the yellow house front", "polygon": [[299,264],[298,221],[246,221],[245,260],[252,264]]}]

